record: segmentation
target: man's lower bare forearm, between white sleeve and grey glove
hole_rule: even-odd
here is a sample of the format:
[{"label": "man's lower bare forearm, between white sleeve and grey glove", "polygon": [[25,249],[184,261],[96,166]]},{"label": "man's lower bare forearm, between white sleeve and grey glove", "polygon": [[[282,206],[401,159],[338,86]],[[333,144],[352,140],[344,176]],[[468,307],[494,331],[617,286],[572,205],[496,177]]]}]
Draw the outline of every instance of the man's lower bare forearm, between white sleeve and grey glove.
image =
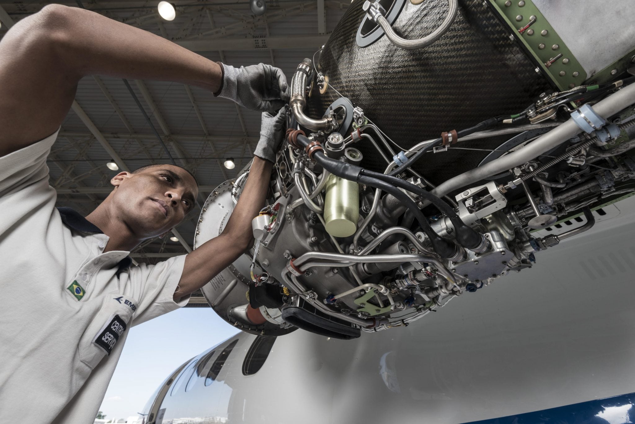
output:
[{"label": "man's lower bare forearm, between white sleeve and grey glove", "polygon": [[203,287],[248,249],[253,240],[251,220],[264,206],[272,167],[269,161],[253,158],[243,193],[223,232],[185,257],[175,301]]}]

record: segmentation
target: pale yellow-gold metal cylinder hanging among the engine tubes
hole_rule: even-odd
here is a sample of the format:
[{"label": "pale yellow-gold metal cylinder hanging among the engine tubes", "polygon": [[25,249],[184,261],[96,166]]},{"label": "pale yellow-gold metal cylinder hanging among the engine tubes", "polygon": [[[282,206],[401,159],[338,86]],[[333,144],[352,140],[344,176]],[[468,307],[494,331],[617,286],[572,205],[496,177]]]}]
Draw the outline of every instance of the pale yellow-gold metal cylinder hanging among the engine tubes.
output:
[{"label": "pale yellow-gold metal cylinder hanging among the engine tubes", "polygon": [[326,182],[324,222],[333,237],[355,234],[359,218],[359,186],[354,181],[330,175]]}]

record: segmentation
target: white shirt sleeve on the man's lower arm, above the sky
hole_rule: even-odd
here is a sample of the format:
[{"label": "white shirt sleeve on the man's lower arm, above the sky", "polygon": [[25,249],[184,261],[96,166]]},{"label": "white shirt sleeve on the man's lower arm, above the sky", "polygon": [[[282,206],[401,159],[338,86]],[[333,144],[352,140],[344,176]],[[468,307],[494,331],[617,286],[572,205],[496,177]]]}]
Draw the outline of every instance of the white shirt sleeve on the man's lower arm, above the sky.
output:
[{"label": "white shirt sleeve on the man's lower arm, above the sky", "polygon": [[[156,265],[142,263],[130,268],[124,294],[138,302],[132,325],[141,324],[187,304],[189,294],[181,297],[178,302],[174,301],[174,292],[183,273],[185,256],[171,257]],[[121,277],[126,278],[124,274]]]}]

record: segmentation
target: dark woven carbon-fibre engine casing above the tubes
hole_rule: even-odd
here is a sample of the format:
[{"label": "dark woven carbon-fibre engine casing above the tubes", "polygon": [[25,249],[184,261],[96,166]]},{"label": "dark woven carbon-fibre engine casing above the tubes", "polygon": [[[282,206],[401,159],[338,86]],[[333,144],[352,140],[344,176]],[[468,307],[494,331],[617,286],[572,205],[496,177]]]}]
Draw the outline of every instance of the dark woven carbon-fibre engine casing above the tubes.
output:
[{"label": "dark woven carbon-fibre engine casing above the tubes", "polygon": [[[363,0],[354,1],[335,27],[319,55],[318,70],[404,148],[443,131],[523,111],[549,88],[482,0],[459,0],[457,18],[448,32],[418,50],[398,48],[385,36],[359,47],[356,33],[364,17],[362,4]],[[392,26],[403,38],[421,38],[438,27],[447,11],[446,0],[406,1]],[[312,118],[321,118],[339,97],[332,88],[323,95],[317,92],[307,102]],[[473,141],[470,147],[493,149],[506,138]],[[364,143],[356,147],[364,154],[364,167],[384,169],[385,162],[373,147]],[[438,184],[476,167],[485,156],[486,152],[465,150],[434,157],[430,153],[415,168]]]}]

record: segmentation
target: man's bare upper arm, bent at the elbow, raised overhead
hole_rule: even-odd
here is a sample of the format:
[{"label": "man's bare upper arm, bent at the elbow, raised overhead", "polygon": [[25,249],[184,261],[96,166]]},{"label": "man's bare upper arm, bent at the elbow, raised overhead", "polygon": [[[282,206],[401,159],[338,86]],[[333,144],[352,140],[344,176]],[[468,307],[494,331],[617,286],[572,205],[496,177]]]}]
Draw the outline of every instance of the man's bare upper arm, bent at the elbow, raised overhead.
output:
[{"label": "man's bare upper arm, bent at the elbow, raised overhead", "polygon": [[86,75],[220,88],[218,64],[97,13],[58,4],[18,22],[0,41],[0,156],[60,127]]}]

